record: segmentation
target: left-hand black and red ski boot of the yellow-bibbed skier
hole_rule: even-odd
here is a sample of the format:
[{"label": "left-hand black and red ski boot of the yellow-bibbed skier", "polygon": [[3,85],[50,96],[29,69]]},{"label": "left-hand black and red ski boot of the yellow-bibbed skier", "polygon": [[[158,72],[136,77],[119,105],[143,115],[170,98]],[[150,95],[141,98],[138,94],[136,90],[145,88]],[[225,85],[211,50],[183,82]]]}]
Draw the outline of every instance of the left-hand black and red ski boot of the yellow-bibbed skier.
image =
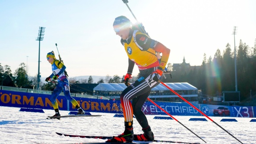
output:
[{"label": "left-hand black and red ski boot of the yellow-bibbed skier", "polygon": [[112,139],[109,139],[106,142],[131,143],[133,140],[132,122],[124,122],[124,126],[124,133],[119,136],[113,136]]}]

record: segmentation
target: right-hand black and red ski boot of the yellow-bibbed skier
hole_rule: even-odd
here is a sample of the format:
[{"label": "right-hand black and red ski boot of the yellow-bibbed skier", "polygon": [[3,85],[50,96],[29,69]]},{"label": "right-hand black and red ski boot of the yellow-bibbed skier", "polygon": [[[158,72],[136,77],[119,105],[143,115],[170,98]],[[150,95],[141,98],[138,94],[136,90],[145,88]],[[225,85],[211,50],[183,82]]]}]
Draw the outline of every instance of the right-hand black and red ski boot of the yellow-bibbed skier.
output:
[{"label": "right-hand black and red ski boot of the yellow-bibbed skier", "polygon": [[134,140],[138,140],[138,141],[153,141],[154,140],[154,134],[151,131],[150,126],[148,126],[147,128],[142,128],[142,131],[144,132],[143,134],[139,134],[139,135],[134,135]]}]

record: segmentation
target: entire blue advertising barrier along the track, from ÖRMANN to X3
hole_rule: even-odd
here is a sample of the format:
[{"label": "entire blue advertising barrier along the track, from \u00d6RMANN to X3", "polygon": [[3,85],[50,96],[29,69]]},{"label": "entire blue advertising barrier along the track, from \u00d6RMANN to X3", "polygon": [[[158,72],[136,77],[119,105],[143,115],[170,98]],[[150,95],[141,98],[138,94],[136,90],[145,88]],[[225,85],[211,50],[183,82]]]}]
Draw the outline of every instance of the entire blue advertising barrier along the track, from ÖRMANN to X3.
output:
[{"label": "entire blue advertising barrier along the track, from \u00d6RMANN to X3", "polygon": [[[50,96],[47,94],[16,92],[0,90],[0,106],[18,107],[18,108],[39,108],[53,109],[50,101]],[[73,97],[78,104],[86,112],[108,112],[108,113],[123,113],[120,100],[102,100],[92,98]],[[65,98],[58,96],[57,102],[60,110],[76,111],[76,108]],[[172,103],[172,102],[155,102],[171,115],[176,116],[202,116],[187,103]],[[226,107],[229,113],[225,116],[231,117],[255,117],[256,107],[247,106],[220,106],[209,104],[194,104],[194,106],[204,112],[207,116],[215,116],[214,109]],[[167,115],[165,112],[157,108],[154,104],[146,101],[142,107],[142,111],[146,115]],[[218,112],[221,111],[218,110]],[[227,111],[227,110],[226,110]],[[220,112],[221,115],[221,112]],[[218,116],[218,115],[216,115]]]}]

